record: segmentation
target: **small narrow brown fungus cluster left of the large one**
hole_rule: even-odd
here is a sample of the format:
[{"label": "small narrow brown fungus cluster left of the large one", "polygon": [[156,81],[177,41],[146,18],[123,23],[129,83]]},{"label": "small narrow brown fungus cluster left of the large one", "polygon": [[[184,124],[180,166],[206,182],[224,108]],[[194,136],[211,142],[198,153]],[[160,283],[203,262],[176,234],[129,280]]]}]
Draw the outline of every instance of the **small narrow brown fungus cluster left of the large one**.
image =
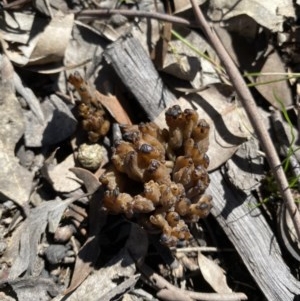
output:
[{"label": "small narrow brown fungus cluster left of the large one", "polygon": [[78,72],[71,74],[68,80],[76,88],[81,98],[78,112],[82,118],[83,129],[88,132],[88,138],[91,142],[97,142],[109,131],[110,122],[107,113],[98,101],[96,91],[92,91],[92,88]]}]

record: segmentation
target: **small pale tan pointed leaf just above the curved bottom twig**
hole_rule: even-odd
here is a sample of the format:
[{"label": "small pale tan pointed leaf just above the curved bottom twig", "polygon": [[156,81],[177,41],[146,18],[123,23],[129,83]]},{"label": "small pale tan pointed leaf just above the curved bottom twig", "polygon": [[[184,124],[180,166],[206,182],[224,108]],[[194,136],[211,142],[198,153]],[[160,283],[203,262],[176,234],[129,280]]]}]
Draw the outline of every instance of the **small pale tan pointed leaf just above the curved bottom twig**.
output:
[{"label": "small pale tan pointed leaf just above the curved bottom twig", "polygon": [[219,294],[232,293],[226,282],[224,270],[220,268],[213,260],[198,253],[198,265],[203,278]]}]

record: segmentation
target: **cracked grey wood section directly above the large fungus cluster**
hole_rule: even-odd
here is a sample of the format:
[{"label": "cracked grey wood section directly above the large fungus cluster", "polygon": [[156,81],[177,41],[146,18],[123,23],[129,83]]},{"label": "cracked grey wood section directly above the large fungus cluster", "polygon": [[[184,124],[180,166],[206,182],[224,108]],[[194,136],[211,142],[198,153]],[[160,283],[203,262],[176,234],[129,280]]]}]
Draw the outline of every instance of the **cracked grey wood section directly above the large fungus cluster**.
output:
[{"label": "cracked grey wood section directly above the large fungus cluster", "polygon": [[125,36],[109,45],[104,57],[133,93],[150,119],[170,106],[175,96],[165,87],[139,41]]}]

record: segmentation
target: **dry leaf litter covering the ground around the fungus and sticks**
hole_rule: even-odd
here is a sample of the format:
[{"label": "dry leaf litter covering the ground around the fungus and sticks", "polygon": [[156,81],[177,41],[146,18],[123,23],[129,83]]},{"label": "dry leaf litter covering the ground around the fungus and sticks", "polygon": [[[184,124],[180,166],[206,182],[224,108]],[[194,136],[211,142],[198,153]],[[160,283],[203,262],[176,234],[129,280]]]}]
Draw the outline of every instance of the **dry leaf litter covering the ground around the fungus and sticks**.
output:
[{"label": "dry leaf litter covering the ground around the fungus and sticks", "polygon": [[[164,12],[162,2],[159,1],[159,6],[155,2],[143,1],[140,10],[155,12],[158,9]],[[174,2],[177,16],[191,13],[189,1]],[[203,2],[199,1],[199,4]],[[94,9],[107,5],[111,3],[100,1]],[[118,9],[132,9],[131,5],[125,1]],[[80,2],[74,2],[73,6],[75,9],[83,8]],[[77,21],[73,10],[60,1],[50,6],[37,1],[31,8],[34,13],[22,4],[21,8],[16,11],[4,6],[0,22],[3,49],[0,82],[0,226],[3,234],[0,242],[5,245],[4,250],[0,250],[0,291],[6,292],[5,298],[10,295],[7,289],[10,286],[18,300],[37,296],[40,300],[112,300],[116,296],[134,300],[141,291],[144,295],[149,294],[148,288],[140,284],[147,278],[146,274],[141,276],[143,269],[145,271],[143,264],[146,264],[152,265],[155,270],[160,269],[162,276],[174,287],[178,285],[196,293],[199,286],[207,285],[209,288],[205,290],[209,293],[228,294],[229,298],[233,298],[230,300],[245,299],[245,295],[239,298],[231,295],[232,283],[227,284],[229,279],[221,267],[230,265],[230,262],[216,263],[219,262],[219,253],[209,256],[192,253],[189,259],[198,263],[199,269],[195,270],[196,276],[190,276],[182,262],[176,261],[172,250],[160,246],[157,233],[149,234],[123,216],[106,215],[101,210],[104,191],[98,179],[109,168],[109,159],[101,163],[98,170],[91,172],[82,168],[76,157],[79,145],[88,140],[76,111],[80,97],[70,93],[67,78],[74,73],[74,68],[85,75],[84,84],[90,91],[88,97],[102,104],[112,124],[146,122],[143,110],[147,112],[149,108],[137,106],[130,94],[132,91],[126,76],[124,83],[121,83],[110,70],[110,76],[106,74],[100,79],[103,82],[113,79],[115,90],[107,93],[103,82],[99,85],[99,75],[103,74],[103,70],[111,69],[102,60],[102,53],[111,42],[130,33],[139,39],[146,54],[151,55],[162,35],[160,23],[151,20],[152,32],[149,36],[146,33],[151,26],[147,19],[136,23],[126,17],[106,18],[86,24],[84,20]],[[251,31],[247,26],[250,23],[247,23],[249,19],[245,15],[252,19],[257,30],[268,35],[283,31],[285,18],[295,18],[294,7],[291,1],[273,1],[257,3],[255,9],[250,1],[237,3],[233,7],[230,1],[208,1],[207,16],[214,22],[220,21],[217,28],[224,33],[221,38],[241,70],[261,73],[254,79],[248,77],[250,82],[272,81],[270,85],[256,86],[261,99],[280,108],[274,98],[276,94],[286,107],[290,107],[294,101],[289,83],[277,81],[277,75],[263,74],[283,73],[286,70],[281,53],[267,47],[267,35],[263,36],[262,45],[265,48],[252,47],[252,54],[246,60],[243,58],[243,48],[232,47],[230,41],[236,33],[249,45],[257,38],[257,31]],[[173,26],[175,33],[177,29],[183,33],[184,41],[174,38],[170,41],[165,65],[160,71],[171,76],[173,83],[169,78],[166,82],[169,86],[171,83],[170,89],[174,90],[176,103],[183,109],[196,109],[201,118],[208,121],[208,156],[213,158],[210,171],[223,166],[223,172],[233,186],[247,193],[257,191],[264,170],[263,157],[257,144],[250,145],[251,141],[256,141],[255,133],[235,91],[229,85],[226,74],[216,67],[220,63],[205,39],[195,30],[182,32],[176,25]],[[152,43],[150,48],[149,37]],[[215,64],[203,56],[200,58],[199,52],[212,58]],[[53,74],[46,77],[46,82],[45,77],[40,76],[38,82],[33,84],[30,76],[28,80],[24,67],[29,68],[30,75]],[[71,71],[68,70],[70,68]],[[119,99],[117,95],[121,94],[120,91],[123,98]],[[128,112],[124,98],[131,106]],[[162,116],[164,112],[155,121],[164,128],[166,125]],[[113,146],[110,135],[100,142],[107,148],[109,156]],[[16,156],[21,153],[18,149],[23,149],[25,157],[31,154],[32,164],[22,165],[23,160]],[[237,157],[248,163],[252,161],[255,168],[250,170],[249,165],[242,167],[239,160],[235,160]],[[42,162],[37,163],[38,160]],[[222,247],[230,245],[224,234],[220,234],[220,229],[219,233],[212,234],[209,223],[215,222],[208,219],[203,225],[200,223],[202,226],[194,235],[196,239],[190,242],[191,246],[203,247],[204,244],[205,247],[216,239],[220,239],[219,245]],[[199,236],[203,237],[199,239]],[[224,256],[221,258],[224,259]],[[177,273],[181,271],[181,277],[175,277],[173,281],[176,269]],[[244,267],[236,272],[241,271],[247,274]],[[233,273],[231,277],[237,276]],[[151,283],[150,279],[145,283]],[[240,285],[238,290],[245,291],[251,300],[253,292],[245,287],[255,286],[255,283],[250,275],[246,279],[250,284]],[[151,285],[155,287],[155,281]],[[164,300],[174,297],[176,290],[172,285],[168,289],[160,289],[158,296]],[[205,297],[201,295],[202,298],[209,296],[209,293]],[[259,295],[262,296],[261,293]],[[193,296],[197,299],[200,295]],[[187,296],[187,300],[191,298]]]}]

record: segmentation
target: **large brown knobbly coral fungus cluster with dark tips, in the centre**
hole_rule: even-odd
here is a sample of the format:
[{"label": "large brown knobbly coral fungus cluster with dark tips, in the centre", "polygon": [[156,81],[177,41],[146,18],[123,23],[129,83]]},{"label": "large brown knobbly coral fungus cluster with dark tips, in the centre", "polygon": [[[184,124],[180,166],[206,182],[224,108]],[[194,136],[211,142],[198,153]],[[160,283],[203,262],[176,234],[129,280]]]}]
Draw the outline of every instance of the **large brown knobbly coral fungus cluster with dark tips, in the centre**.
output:
[{"label": "large brown knobbly coral fungus cluster with dark tips, in the centre", "polygon": [[152,122],[122,126],[123,140],[113,149],[117,173],[141,183],[141,191],[121,188],[113,171],[101,181],[107,187],[103,206],[108,212],[129,218],[138,214],[149,230],[162,232],[162,243],[174,246],[191,237],[186,222],[197,222],[211,209],[211,196],[204,194],[209,125],[196,111],[182,111],[178,105],[165,115],[168,129]]}]

